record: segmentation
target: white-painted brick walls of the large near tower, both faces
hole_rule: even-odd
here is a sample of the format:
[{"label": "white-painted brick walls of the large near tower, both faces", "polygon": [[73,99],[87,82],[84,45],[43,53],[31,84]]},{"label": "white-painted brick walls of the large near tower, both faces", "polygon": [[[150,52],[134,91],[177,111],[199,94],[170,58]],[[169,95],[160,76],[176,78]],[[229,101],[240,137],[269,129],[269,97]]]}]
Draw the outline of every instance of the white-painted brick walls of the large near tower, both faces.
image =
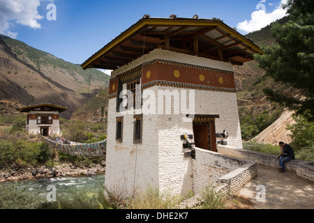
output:
[{"label": "white-painted brick walls of the large near tower, both faces", "polygon": [[[167,59],[232,70],[229,63],[155,49],[150,54],[115,70],[112,72],[112,77],[153,59]],[[158,91],[180,89],[169,86],[153,86],[148,90],[154,91],[158,97]],[[182,90],[186,91],[187,89]],[[226,130],[229,134],[227,144],[242,148],[236,93],[193,91],[195,91],[194,114],[219,115],[220,118],[215,120],[216,133]],[[165,113],[165,106],[163,112],[156,110],[156,114],[143,114],[142,144],[133,144],[133,114],[123,115],[116,112],[116,102],[117,98],[111,98],[108,105],[105,172],[107,189],[118,194],[129,195],[138,190],[145,190],[148,185],[158,187],[161,192],[167,190],[175,194],[185,194],[193,190],[192,159],[184,157],[186,149],[183,148],[183,144],[185,141],[180,139],[181,134],[193,134],[193,123],[192,121],[182,121],[186,114],[181,114],[180,108],[180,114],[174,114],[180,103],[172,105],[171,114]],[[156,98],[156,109],[158,109],[158,103],[161,101]],[[123,141],[121,143],[115,140],[116,117],[118,116],[124,116]]]}]

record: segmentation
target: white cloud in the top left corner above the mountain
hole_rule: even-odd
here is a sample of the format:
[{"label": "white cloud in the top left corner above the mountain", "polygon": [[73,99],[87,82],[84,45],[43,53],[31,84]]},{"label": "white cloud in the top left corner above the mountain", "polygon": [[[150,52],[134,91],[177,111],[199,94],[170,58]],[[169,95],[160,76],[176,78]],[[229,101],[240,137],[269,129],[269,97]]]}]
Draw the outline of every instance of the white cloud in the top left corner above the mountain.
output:
[{"label": "white cloud in the top left corner above the mountain", "polygon": [[41,0],[1,0],[0,1],[0,33],[16,38],[17,33],[10,31],[14,24],[22,24],[32,29],[41,28],[38,14]]}]

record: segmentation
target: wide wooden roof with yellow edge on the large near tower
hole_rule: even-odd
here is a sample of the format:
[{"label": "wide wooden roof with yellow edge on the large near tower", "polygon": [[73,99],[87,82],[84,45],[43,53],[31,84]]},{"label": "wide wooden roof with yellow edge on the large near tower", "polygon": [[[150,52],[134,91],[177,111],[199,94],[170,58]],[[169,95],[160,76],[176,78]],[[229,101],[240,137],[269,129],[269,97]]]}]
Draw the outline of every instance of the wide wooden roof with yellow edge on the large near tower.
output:
[{"label": "wide wooden roof with yellow edge on the large near tower", "polygon": [[81,66],[115,70],[156,48],[237,65],[262,54],[260,46],[220,19],[144,16]]}]

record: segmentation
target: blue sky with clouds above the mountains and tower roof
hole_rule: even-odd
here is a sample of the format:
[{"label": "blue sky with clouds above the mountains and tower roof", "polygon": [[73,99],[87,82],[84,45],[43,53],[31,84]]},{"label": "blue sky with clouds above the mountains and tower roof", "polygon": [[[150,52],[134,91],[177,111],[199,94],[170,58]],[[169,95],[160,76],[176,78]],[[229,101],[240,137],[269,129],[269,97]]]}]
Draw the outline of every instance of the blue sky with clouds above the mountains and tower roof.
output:
[{"label": "blue sky with clouds above the mountains and tower roof", "polygon": [[[285,15],[286,0],[0,0],[0,33],[71,63],[83,63],[142,18],[218,17],[246,34]],[[47,9],[49,4],[54,8]],[[49,15],[47,15],[47,13]],[[56,20],[49,20],[55,15]]]}]

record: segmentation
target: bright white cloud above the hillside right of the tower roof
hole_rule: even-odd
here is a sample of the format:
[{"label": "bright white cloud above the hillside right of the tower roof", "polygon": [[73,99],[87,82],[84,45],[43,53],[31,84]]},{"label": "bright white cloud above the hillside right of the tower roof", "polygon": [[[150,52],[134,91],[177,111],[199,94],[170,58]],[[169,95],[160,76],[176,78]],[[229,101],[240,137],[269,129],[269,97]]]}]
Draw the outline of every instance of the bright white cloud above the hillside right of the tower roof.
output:
[{"label": "bright white cloud above the hillside right of the tower roof", "polygon": [[266,0],[260,1],[257,6],[259,6],[252,14],[251,20],[245,20],[244,22],[239,22],[237,24],[237,29],[248,32],[253,32],[262,29],[264,26],[271,24],[276,20],[281,19],[287,13],[286,9],[282,8],[283,3],[287,3],[287,0],[281,0],[280,6],[277,6],[271,13],[267,13],[266,10],[263,10],[265,7],[260,7],[262,2],[266,2]]}]

